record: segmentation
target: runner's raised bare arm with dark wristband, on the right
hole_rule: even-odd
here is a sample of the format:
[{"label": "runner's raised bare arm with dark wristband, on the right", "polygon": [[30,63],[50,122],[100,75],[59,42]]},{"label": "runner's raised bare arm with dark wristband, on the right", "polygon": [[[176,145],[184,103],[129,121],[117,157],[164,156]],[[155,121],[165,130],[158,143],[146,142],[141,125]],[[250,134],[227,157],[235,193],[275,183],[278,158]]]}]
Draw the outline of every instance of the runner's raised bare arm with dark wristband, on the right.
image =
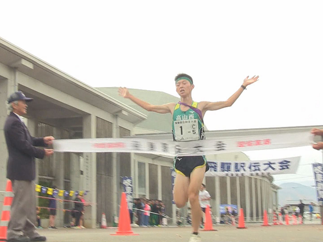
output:
[{"label": "runner's raised bare arm with dark wristband, on the right", "polygon": [[[248,79],[249,76],[247,76],[243,82],[243,86],[248,86],[256,81],[258,81],[259,76],[253,76],[252,78]],[[203,115],[206,111],[214,111],[218,110],[224,107],[230,107],[234,104],[234,102],[238,99],[238,97],[243,92],[244,88],[241,86],[238,91],[236,91],[232,96],[228,98],[226,101],[220,101],[220,102],[200,102],[199,108],[201,109]]]}]

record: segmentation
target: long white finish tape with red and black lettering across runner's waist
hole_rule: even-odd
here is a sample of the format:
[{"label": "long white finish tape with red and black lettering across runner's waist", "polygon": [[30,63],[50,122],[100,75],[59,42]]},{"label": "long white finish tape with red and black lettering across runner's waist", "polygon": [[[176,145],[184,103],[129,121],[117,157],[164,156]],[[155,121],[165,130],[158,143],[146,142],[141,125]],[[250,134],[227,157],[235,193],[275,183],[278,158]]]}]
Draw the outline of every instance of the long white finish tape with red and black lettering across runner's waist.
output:
[{"label": "long white finish tape with red and black lettering across runner's waist", "polygon": [[133,152],[163,156],[201,156],[249,150],[308,146],[309,132],[257,136],[217,137],[216,139],[173,142],[140,138],[95,138],[54,140],[55,152]]}]

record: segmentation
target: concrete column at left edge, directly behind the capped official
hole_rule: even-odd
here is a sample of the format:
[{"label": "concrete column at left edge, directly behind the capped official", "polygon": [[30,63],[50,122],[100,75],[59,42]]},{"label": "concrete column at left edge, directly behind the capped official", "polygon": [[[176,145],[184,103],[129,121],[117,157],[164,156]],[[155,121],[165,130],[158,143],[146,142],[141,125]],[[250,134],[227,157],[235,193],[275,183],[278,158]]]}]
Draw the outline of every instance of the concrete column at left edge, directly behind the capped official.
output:
[{"label": "concrete column at left edge, directly behind the capped official", "polygon": [[[7,174],[7,160],[8,160],[8,150],[5,142],[4,126],[5,120],[7,118],[7,109],[5,102],[7,98],[15,91],[17,91],[16,82],[9,79],[0,79],[0,191],[5,191],[6,187],[6,174]],[[0,201],[3,202],[5,193],[0,193]],[[3,203],[0,202],[0,211],[2,210]]]}]

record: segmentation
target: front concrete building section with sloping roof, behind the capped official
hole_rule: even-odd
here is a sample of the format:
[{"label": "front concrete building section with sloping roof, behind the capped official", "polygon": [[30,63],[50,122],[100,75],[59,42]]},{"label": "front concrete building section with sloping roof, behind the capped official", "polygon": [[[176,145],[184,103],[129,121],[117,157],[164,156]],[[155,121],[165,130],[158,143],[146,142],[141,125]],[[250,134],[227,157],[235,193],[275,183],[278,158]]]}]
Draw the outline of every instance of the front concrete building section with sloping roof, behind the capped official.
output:
[{"label": "front concrete building section with sloping roof, behind the capped official", "polygon": [[[7,116],[5,101],[17,90],[34,98],[28,104],[28,115],[25,117],[33,136],[53,135],[56,139],[130,136],[134,125],[147,118],[141,112],[0,39],[1,191],[5,189],[7,163],[3,133]],[[118,161],[120,159],[121,162]],[[85,225],[96,227],[102,212],[109,217],[118,212],[120,174],[135,176],[134,172],[134,159],[130,154],[56,153],[37,160],[36,183],[56,185],[65,190],[89,190],[86,198],[92,207],[86,211]],[[1,193],[1,201],[3,196]],[[63,207],[58,203],[57,226],[67,222],[63,208],[69,206],[64,204]]]}]

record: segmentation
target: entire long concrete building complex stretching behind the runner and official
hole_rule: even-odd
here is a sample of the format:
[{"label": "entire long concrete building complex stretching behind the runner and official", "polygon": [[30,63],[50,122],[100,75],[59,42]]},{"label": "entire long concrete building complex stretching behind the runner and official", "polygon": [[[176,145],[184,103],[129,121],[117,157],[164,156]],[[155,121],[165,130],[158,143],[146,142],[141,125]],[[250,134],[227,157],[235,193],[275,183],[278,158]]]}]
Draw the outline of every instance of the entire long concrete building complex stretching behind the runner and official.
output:
[{"label": "entire long concrete building complex stretching behind the runner and official", "polygon": [[[109,85],[109,83],[107,84]],[[114,83],[111,82],[111,86]],[[26,124],[33,136],[63,138],[124,137],[171,140],[171,116],[148,113],[118,96],[116,88],[93,88],[54,66],[0,38],[0,191],[5,189],[7,149],[3,126],[7,116],[5,101],[21,90],[35,100],[28,107]],[[176,102],[177,97],[145,90],[131,90],[152,104]],[[311,127],[264,128],[206,131],[206,137],[249,136],[307,131]],[[248,160],[245,154],[208,156],[212,160]],[[175,217],[172,205],[171,157],[126,153],[55,153],[37,160],[36,183],[56,185],[65,190],[89,190],[92,203],[85,211],[85,226],[96,227],[101,214],[110,225],[118,214],[122,186],[120,176],[133,177],[134,196],[163,200],[166,214]],[[247,221],[256,221],[263,209],[277,205],[277,189],[271,176],[206,177],[207,190],[215,214],[220,204],[236,204],[245,210]],[[3,201],[0,193],[0,201]],[[2,204],[0,203],[0,210]],[[70,219],[63,209],[71,203],[58,203],[57,226]]]}]

